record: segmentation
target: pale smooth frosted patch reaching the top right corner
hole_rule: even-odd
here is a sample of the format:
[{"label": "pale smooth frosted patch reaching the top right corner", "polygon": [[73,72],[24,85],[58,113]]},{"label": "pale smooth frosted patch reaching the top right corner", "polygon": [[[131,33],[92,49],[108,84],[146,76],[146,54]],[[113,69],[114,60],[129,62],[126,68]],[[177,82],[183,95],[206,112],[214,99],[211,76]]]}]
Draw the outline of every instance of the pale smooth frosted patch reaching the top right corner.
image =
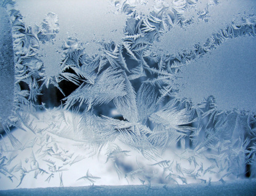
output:
[{"label": "pale smooth frosted patch reaching the top right corner", "polygon": [[[185,17],[189,15],[185,19],[191,20],[190,24],[185,24],[183,27],[173,25],[172,29],[159,38],[157,46],[171,54],[181,53],[183,49],[191,50],[197,43],[204,44],[213,33],[234,22],[240,24],[239,21],[244,16],[256,12],[256,3],[252,0],[222,0],[218,1],[217,5],[211,1],[203,2],[206,2],[204,6],[199,1],[195,7],[184,11]],[[202,19],[198,13],[205,14],[205,12],[206,15]]]}]

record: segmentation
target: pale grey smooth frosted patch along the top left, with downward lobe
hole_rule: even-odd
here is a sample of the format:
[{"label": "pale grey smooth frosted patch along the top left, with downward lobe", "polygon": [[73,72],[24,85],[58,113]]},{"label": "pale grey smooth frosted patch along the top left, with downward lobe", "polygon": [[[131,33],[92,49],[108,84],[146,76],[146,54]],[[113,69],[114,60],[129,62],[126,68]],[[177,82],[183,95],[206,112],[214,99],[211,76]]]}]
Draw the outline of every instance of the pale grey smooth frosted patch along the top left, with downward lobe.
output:
[{"label": "pale grey smooth frosted patch along the top left, with downward lobe", "polygon": [[99,42],[113,40],[120,42],[123,37],[123,29],[126,16],[115,13],[115,6],[109,1],[78,0],[64,1],[28,1],[18,0],[17,7],[23,15],[27,25],[34,27],[40,24],[47,13],[57,15],[61,21],[59,31],[54,38],[53,44],[41,45],[43,60],[48,76],[60,73],[59,65],[61,55],[60,47],[68,37],[76,37],[85,43],[85,51],[97,54],[101,45]]}]

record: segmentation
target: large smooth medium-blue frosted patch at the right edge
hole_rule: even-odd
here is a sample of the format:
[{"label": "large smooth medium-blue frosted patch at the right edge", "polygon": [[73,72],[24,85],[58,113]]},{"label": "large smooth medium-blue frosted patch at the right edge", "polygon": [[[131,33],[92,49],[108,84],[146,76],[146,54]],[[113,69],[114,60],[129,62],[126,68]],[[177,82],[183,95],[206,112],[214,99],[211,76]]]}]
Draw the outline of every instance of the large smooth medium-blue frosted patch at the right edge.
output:
[{"label": "large smooth medium-blue frosted patch at the right edge", "polygon": [[256,111],[256,39],[230,39],[181,69],[178,97],[200,103],[213,95],[221,110]]}]

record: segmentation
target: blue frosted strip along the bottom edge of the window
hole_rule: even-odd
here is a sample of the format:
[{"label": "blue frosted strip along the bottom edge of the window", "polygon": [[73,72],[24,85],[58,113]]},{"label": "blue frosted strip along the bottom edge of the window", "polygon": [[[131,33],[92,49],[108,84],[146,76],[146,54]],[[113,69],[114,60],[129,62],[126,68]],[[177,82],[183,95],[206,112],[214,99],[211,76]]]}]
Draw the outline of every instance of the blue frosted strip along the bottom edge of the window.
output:
[{"label": "blue frosted strip along the bottom edge of the window", "polygon": [[17,189],[0,191],[1,195],[255,195],[255,180],[230,181],[226,184],[187,184],[167,185],[153,184],[151,186],[126,185],[126,186],[84,186],[67,188],[45,189]]}]

